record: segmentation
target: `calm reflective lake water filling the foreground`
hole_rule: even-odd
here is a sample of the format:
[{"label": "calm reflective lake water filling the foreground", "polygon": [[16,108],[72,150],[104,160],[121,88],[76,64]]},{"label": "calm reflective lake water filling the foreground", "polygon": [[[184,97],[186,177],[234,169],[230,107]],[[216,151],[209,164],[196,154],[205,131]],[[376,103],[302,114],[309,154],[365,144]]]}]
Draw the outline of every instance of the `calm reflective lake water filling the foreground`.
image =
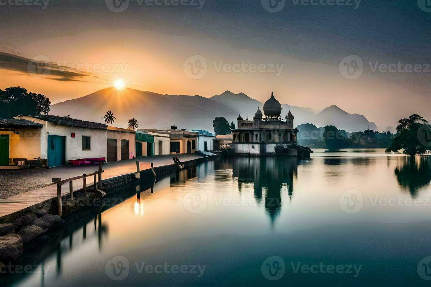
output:
[{"label": "calm reflective lake water filling the foreground", "polygon": [[431,159],[315,151],[207,162],[152,194],[125,188],[22,256],[43,274],[6,284],[429,285]]}]

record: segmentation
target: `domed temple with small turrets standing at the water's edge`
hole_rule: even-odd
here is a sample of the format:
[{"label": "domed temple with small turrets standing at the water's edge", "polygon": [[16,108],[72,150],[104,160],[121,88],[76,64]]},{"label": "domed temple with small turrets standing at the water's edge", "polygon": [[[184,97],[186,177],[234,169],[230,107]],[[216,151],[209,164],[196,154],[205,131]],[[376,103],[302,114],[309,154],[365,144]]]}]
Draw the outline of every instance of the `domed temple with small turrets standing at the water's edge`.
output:
[{"label": "domed temple with small turrets standing at the water's edge", "polygon": [[231,130],[231,148],[236,155],[288,155],[309,157],[312,151],[298,145],[298,129],[294,128],[294,116],[289,111],[281,118],[282,107],[274,97],[274,92],[263,105],[262,114],[257,108],[253,120],[237,118],[237,128]]}]

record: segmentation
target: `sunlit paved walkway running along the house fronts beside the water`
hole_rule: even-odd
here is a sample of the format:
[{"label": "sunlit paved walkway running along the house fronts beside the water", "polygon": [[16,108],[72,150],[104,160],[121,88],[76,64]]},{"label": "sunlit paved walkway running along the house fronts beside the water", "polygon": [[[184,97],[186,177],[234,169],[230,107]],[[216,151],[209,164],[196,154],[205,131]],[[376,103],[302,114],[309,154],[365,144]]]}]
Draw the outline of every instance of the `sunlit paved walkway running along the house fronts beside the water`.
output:
[{"label": "sunlit paved walkway running along the house fronts beside the water", "polygon": [[[102,179],[109,179],[116,176],[122,176],[125,174],[136,173],[136,161],[139,160],[140,170],[145,170],[151,167],[150,163],[154,164],[154,167],[164,166],[173,164],[173,155],[160,155],[154,157],[138,157],[132,160],[122,160],[112,163],[103,164]],[[201,157],[198,154],[175,154],[182,162],[188,160],[194,160]],[[91,174],[97,171],[97,166],[65,166],[65,167],[54,167],[50,169],[37,169],[37,170],[9,170],[2,172],[2,185],[6,188],[12,189],[18,187],[16,194],[7,196],[6,198],[0,199],[0,217],[17,212],[27,207],[31,207],[34,204],[41,203],[50,198],[57,196],[56,184],[52,184],[53,178],[68,179],[74,176],[81,176],[84,173]],[[31,176],[28,176],[31,174]],[[9,178],[8,178],[9,177]],[[93,176],[87,177],[87,186],[93,183]],[[4,180],[3,180],[4,179]],[[26,183],[36,181],[38,184],[44,184],[43,188],[37,188],[30,191],[23,191],[22,188],[29,186]],[[83,179],[73,181],[73,190],[79,190],[83,187]],[[0,186],[0,192],[3,188]],[[3,189],[4,190],[4,189]],[[69,184],[62,185],[62,195],[69,193]]]}]

